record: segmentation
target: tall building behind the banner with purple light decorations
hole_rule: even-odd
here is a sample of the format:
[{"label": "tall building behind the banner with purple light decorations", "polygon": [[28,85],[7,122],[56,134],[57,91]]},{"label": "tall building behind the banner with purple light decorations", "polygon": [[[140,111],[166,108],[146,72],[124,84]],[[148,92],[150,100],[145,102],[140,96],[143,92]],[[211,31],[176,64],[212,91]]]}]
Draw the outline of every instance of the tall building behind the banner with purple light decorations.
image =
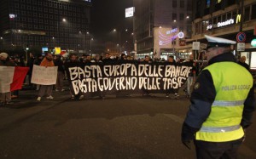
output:
[{"label": "tall building behind the banner with purple light decorations", "polygon": [[[191,37],[189,0],[133,0],[134,42],[137,57],[179,56],[180,43]],[[183,32],[183,36],[178,36]],[[180,35],[180,34],[179,34]]]}]

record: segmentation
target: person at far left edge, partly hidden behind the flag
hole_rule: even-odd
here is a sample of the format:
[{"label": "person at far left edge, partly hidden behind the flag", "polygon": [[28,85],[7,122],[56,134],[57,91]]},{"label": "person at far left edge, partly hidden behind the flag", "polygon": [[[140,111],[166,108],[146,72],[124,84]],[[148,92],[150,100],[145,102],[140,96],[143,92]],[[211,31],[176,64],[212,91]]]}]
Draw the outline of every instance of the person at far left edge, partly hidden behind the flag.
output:
[{"label": "person at far left edge, partly hidden behind the flag", "polygon": [[[9,60],[9,54],[0,54],[0,66],[15,66],[13,61]],[[1,84],[1,83],[0,83]],[[11,100],[11,92],[0,93],[0,105],[9,105]]]}]

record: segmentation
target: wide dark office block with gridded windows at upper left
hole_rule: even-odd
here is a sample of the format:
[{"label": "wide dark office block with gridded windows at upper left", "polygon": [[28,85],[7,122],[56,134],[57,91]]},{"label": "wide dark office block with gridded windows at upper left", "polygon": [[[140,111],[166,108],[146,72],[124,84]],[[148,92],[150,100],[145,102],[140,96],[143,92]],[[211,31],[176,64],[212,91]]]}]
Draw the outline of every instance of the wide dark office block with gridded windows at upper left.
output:
[{"label": "wide dark office block with gridded windows at upper left", "polygon": [[89,50],[90,8],[90,0],[2,0],[2,48]]}]

